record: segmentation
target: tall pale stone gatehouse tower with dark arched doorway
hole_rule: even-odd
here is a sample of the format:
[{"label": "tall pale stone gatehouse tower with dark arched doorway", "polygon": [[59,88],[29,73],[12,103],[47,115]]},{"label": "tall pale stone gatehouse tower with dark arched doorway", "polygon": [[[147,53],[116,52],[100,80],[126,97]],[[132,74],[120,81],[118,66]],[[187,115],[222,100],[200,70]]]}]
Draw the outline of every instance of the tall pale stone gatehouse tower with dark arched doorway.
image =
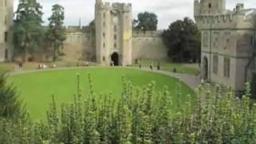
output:
[{"label": "tall pale stone gatehouse tower with dark arched doorway", "polygon": [[132,6],[96,0],[96,59],[109,66],[132,64]]}]

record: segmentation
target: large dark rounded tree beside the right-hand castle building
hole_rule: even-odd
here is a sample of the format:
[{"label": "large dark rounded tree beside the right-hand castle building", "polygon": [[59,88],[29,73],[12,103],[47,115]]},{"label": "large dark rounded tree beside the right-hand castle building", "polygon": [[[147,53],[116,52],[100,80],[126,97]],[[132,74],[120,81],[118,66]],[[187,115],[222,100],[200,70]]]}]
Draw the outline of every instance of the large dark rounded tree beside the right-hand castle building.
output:
[{"label": "large dark rounded tree beside the right-hand castle building", "polygon": [[192,19],[171,23],[162,38],[168,48],[168,56],[174,62],[196,62],[200,59],[201,36]]}]

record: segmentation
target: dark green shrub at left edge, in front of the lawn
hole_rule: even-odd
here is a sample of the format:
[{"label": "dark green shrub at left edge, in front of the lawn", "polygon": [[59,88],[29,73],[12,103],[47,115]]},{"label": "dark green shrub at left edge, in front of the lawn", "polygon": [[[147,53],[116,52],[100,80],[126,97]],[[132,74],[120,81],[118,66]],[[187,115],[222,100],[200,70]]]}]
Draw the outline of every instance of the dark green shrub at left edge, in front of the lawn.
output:
[{"label": "dark green shrub at left edge, in front of the lawn", "polygon": [[24,118],[25,114],[14,86],[8,86],[6,74],[0,74],[0,118]]}]

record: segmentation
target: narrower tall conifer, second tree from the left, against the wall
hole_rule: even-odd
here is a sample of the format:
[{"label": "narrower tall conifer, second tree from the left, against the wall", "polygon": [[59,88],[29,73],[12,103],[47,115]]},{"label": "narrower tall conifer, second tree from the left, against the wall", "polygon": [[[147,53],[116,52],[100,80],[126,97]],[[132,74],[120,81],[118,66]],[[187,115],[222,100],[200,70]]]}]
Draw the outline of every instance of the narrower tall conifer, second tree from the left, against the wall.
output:
[{"label": "narrower tall conifer, second tree from the left, against the wall", "polygon": [[50,41],[50,51],[52,52],[53,61],[56,61],[58,56],[61,53],[60,47],[63,45],[63,41],[65,41],[65,30],[63,27],[64,21],[64,7],[56,4],[52,7],[53,14],[48,18],[49,23],[49,31],[47,33],[47,38]]}]

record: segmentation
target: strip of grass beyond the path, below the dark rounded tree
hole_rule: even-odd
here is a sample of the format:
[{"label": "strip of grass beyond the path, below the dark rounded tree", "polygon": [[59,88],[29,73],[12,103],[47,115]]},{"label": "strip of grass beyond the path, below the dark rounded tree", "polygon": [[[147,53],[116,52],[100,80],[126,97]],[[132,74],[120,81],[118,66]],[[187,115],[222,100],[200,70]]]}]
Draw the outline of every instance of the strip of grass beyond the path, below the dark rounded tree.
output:
[{"label": "strip of grass beyond the path, below the dark rounded tree", "polygon": [[[177,73],[180,74],[199,74],[199,66],[198,63],[171,63],[168,62],[166,60],[161,60],[161,61],[157,61],[157,60],[142,60],[141,64],[142,67],[148,67],[150,66],[151,62],[153,62],[154,67],[156,68],[156,66],[158,66],[158,62],[160,62],[160,66],[162,70],[167,70],[167,71],[171,71],[173,72],[174,69],[176,69]],[[135,64],[133,66],[138,67],[138,64]]]}]

